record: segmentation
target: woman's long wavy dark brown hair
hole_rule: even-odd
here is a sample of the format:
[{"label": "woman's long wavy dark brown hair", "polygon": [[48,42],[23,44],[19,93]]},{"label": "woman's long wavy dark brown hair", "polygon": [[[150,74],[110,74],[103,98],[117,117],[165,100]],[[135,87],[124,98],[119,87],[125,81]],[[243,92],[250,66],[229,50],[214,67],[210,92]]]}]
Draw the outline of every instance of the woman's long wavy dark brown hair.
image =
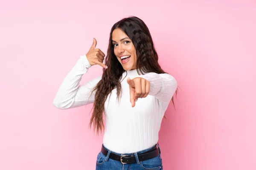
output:
[{"label": "woman's long wavy dark brown hair", "polygon": [[[104,104],[108,95],[111,95],[111,92],[114,88],[116,88],[117,90],[116,99],[119,100],[120,93],[122,95],[122,87],[119,80],[122,77],[122,74],[125,72],[125,70],[122,68],[121,63],[116,58],[112,44],[112,33],[113,30],[116,28],[119,28],[122,31],[124,31],[125,34],[131,39],[132,43],[134,44],[137,54],[136,67],[141,74],[143,74],[143,72],[154,72],[157,74],[166,73],[158,64],[158,55],[154,48],[151,34],[143,20],[141,20],[138,17],[132,16],[123,18],[122,20],[115,23],[111,28],[108,42],[108,51],[105,60],[105,65],[107,65],[108,68],[103,68],[102,79],[98,82],[95,88],[93,88],[93,91],[96,90],[96,93],[95,101],[93,104],[94,109],[92,108],[93,113],[90,119],[89,126],[91,127],[91,125],[93,124],[94,131],[96,129],[97,134],[99,134],[99,131],[102,132],[105,129],[103,121],[103,111]],[[140,73],[138,72],[138,74]],[[177,90],[175,92],[177,95]],[[172,103],[174,105],[173,97]]]}]

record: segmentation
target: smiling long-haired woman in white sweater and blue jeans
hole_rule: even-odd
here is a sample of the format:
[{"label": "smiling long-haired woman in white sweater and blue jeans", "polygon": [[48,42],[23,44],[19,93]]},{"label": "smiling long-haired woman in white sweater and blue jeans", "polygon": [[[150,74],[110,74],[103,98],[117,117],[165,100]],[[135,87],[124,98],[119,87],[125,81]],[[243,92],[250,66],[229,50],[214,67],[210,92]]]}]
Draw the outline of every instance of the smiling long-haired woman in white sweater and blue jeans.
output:
[{"label": "smiling long-haired woman in white sweater and blue jeans", "polygon": [[[93,104],[90,127],[104,131],[96,170],[163,169],[158,132],[177,89],[174,77],[162,70],[148,27],[138,17],[113,25],[108,52],[96,48],[96,39],[67,74],[53,104],[59,109]],[[79,85],[92,65],[102,76]],[[104,114],[104,115],[103,115]],[[105,116],[105,125],[103,122]]]}]

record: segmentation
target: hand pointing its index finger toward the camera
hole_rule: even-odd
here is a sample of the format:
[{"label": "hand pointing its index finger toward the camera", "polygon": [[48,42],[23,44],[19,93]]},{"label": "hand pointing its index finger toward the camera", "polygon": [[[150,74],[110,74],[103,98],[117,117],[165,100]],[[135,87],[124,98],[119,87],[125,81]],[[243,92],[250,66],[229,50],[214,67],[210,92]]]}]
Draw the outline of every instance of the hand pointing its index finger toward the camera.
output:
[{"label": "hand pointing its index finger toward the camera", "polygon": [[127,79],[127,83],[130,88],[130,102],[131,107],[135,106],[138,98],[144,98],[148,96],[150,90],[150,82],[141,77],[135,77],[134,79]]}]

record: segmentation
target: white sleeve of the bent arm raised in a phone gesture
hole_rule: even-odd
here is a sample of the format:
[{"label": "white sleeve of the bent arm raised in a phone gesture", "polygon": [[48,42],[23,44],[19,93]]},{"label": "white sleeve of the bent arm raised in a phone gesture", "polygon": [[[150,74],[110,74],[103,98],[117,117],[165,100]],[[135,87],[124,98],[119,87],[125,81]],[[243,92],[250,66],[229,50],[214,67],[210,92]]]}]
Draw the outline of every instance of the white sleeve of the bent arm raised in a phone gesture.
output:
[{"label": "white sleeve of the bent arm raised in a phone gesture", "polygon": [[67,74],[53,100],[53,105],[58,109],[76,108],[94,102],[91,90],[99,82],[102,76],[96,77],[83,85],[79,85],[83,74],[91,67],[86,55],[80,56],[76,65]]}]

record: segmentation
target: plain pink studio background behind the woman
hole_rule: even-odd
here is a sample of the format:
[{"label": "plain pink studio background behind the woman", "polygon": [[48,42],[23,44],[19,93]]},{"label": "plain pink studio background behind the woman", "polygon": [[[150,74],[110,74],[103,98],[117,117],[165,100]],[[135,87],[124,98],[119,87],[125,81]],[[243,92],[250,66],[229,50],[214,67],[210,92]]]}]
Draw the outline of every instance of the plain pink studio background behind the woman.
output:
[{"label": "plain pink studio background behind the woman", "polygon": [[[0,170],[93,170],[92,105],[58,110],[59,85],[123,17],[148,26],[180,87],[159,144],[165,170],[256,169],[256,1],[0,2]],[[90,68],[81,83],[102,74]]]}]

